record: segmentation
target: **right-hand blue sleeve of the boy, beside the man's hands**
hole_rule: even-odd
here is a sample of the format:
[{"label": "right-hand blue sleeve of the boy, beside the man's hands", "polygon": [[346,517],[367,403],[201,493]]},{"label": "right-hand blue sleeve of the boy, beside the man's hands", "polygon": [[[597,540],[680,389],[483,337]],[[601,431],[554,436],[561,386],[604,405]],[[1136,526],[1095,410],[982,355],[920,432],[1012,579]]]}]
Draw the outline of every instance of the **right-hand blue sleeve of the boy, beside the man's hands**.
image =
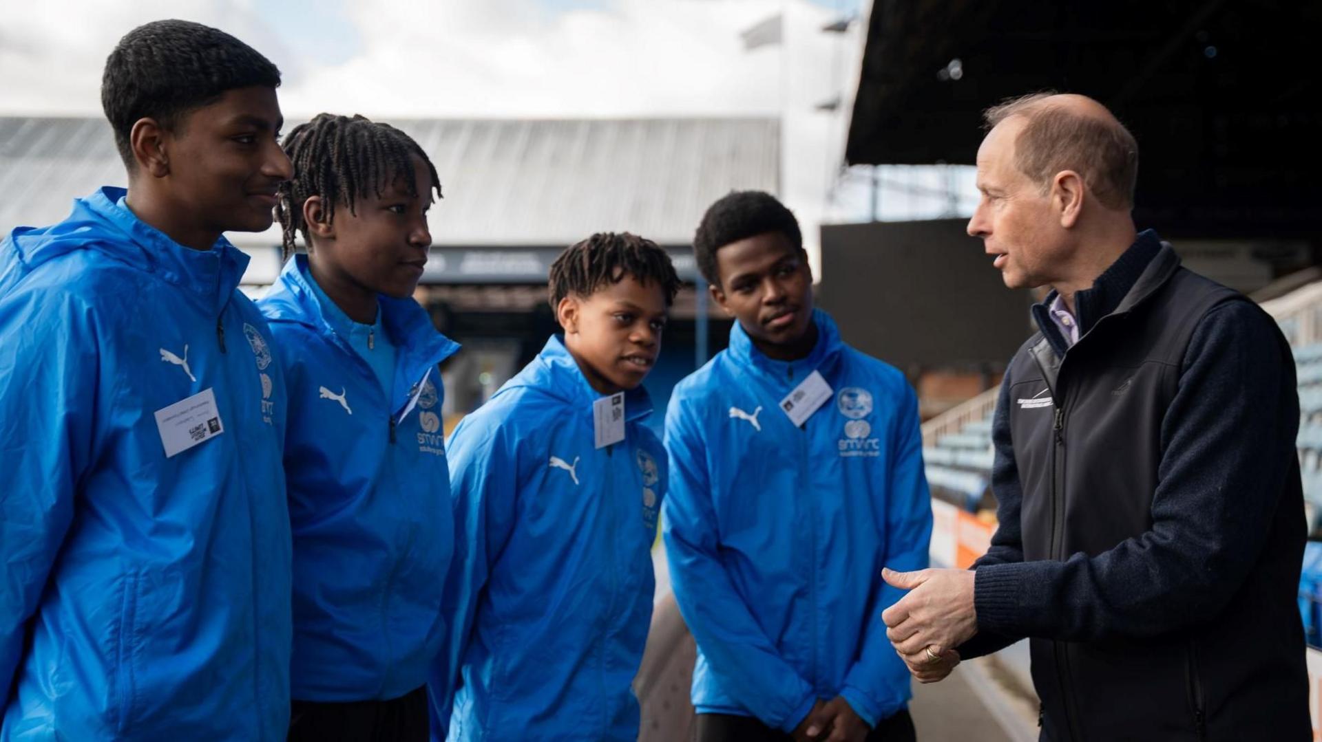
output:
[{"label": "right-hand blue sleeve of the boy, beside the man's hands", "polygon": [[[886,502],[886,566],[896,572],[927,569],[932,539],[932,496],[923,471],[923,434],[917,420],[917,397],[904,384],[903,411],[891,432],[891,469],[882,471],[874,496]],[[910,672],[886,638],[880,611],[904,594],[874,574],[873,603],[865,624],[858,660],[845,676],[841,696],[869,725],[900,710],[912,696]]]}]

